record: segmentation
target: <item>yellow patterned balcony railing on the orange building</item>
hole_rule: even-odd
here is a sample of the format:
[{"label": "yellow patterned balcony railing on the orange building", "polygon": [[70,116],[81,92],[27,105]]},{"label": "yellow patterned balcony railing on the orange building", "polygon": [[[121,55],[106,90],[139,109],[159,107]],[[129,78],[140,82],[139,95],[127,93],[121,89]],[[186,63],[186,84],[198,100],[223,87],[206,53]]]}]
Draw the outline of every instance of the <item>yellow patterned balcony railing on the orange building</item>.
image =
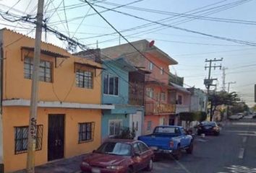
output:
[{"label": "yellow patterned balcony railing on the orange building", "polygon": [[146,115],[175,113],[175,105],[166,103],[145,103]]}]

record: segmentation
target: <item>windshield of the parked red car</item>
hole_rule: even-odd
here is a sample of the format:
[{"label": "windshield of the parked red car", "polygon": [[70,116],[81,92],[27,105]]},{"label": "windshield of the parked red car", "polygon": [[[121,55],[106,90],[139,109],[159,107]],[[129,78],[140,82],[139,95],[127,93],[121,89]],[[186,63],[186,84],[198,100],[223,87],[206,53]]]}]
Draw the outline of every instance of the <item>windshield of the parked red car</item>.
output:
[{"label": "windshield of the parked red car", "polygon": [[127,143],[106,142],[103,143],[96,153],[113,154],[119,156],[131,156],[132,146]]}]

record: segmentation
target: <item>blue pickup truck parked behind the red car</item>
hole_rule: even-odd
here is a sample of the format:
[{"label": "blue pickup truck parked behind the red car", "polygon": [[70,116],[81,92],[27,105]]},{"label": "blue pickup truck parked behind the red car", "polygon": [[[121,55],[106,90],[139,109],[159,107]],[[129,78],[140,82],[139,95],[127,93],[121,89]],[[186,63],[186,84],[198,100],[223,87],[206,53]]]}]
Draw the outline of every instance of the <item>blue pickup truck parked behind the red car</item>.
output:
[{"label": "blue pickup truck parked behind the red car", "polygon": [[179,160],[182,149],[188,154],[193,151],[193,138],[187,135],[184,128],[175,125],[161,125],[155,127],[153,133],[147,136],[139,136],[138,140],[146,143],[155,154],[171,154]]}]

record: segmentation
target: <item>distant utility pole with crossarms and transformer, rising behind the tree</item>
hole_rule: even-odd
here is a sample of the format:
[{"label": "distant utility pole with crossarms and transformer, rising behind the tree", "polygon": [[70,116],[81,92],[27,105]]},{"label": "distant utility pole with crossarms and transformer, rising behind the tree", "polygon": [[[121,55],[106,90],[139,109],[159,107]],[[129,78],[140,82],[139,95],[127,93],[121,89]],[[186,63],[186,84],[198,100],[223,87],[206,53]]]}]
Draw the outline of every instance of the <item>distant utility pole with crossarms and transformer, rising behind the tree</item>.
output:
[{"label": "distant utility pole with crossarms and transformer, rising behind the tree", "polygon": [[[218,61],[223,61],[223,58],[221,58],[221,59],[216,59],[216,58],[214,58],[214,59],[210,59],[210,60],[205,59],[205,63],[209,63],[209,66],[206,66],[206,65],[205,65],[205,70],[206,70],[207,68],[209,68],[208,79],[205,79],[205,80],[204,80],[204,84],[205,84],[205,86],[206,86],[206,88],[207,88],[208,97],[209,97],[209,92],[210,92],[210,86],[217,86],[216,84],[213,84],[213,81],[216,81],[217,79],[212,79],[212,78],[210,78],[210,73],[211,73],[211,69],[212,69],[212,68],[213,68],[214,70],[215,70],[216,68],[220,68],[220,70],[221,70],[221,65],[216,66],[216,63],[214,63],[214,65],[213,65],[213,62],[218,62]],[[212,110],[213,110],[212,103],[210,103],[210,120],[213,119],[213,111],[212,111]]]}]

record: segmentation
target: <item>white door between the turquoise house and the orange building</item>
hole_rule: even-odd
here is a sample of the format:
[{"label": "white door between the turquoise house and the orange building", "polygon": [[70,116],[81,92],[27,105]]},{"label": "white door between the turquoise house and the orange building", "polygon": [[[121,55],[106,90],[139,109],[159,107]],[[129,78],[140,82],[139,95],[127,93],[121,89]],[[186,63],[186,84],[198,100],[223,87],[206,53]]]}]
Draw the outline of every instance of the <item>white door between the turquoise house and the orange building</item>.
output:
[{"label": "white door between the turquoise house and the orange building", "polygon": [[130,115],[129,127],[135,129],[135,139],[142,135],[142,111]]}]

